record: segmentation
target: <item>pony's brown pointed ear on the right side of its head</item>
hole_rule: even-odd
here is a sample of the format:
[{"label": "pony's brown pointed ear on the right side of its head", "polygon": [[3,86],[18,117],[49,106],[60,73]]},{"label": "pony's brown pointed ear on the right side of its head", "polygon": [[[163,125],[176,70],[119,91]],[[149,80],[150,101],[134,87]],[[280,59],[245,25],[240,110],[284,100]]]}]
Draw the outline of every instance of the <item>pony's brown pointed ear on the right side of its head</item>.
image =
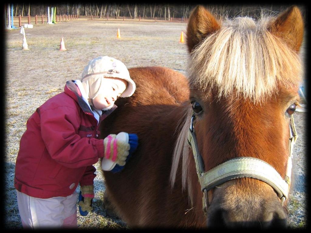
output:
[{"label": "pony's brown pointed ear on the right side of its head", "polygon": [[269,29],[272,34],[282,38],[290,48],[299,51],[304,35],[304,22],[298,7],[291,6],[279,15]]}]

